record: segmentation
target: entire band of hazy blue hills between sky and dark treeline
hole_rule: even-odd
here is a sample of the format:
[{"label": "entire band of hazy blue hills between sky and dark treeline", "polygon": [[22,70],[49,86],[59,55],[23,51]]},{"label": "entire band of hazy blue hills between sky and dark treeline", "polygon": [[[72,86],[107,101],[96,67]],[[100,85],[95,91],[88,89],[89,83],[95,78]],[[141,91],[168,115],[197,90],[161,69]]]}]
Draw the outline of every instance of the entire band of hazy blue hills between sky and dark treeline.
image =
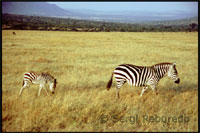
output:
[{"label": "entire band of hazy blue hills between sky and dark treeline", "polygon": [[[182,11],[98,11],[88,9],[65,9],[48,2],[2,2],[2,12],[9,14],[34,15],[45,17],[85,19],[101,22],[143,23],[153,21],[171,21],[195,17]],[[182,20],[181,20],[182,21]],[[176,22],[175,22],[176,23]]]}]

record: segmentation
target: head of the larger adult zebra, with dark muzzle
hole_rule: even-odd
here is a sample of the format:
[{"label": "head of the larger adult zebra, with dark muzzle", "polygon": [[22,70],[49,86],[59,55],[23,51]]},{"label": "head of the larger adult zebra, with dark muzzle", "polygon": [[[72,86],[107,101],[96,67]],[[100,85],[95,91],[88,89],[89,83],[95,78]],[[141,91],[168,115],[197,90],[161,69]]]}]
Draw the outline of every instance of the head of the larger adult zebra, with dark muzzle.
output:
[{"label": "head of the larger adult zebra, with dark muzzle", "polygon": [[170,77],[176,84],[180,83],[180,79],[178,78],[178,72],[176,70],[176,63],[172,63],[169,66],[168,77]]}]

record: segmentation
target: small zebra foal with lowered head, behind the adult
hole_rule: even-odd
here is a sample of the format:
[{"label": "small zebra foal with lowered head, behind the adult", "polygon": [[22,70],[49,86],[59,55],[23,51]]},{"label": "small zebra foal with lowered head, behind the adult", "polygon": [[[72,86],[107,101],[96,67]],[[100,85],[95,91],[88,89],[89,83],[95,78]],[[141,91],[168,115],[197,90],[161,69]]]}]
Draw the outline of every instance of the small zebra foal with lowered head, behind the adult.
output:
[{"label": "small zebra foal with lowered head, behind the adult", "polygon": [[50,91],[52,92],[52,94],[54,94],[57,81],[49,73],[26,72],[26,73],[24,73],[23,84],[22,84],[22,88],[20,89],[19,95],[22,94],[23,89],[28,87],[30,85],[30,83],[40,84],[40,89],[38,92],[38,96],[40,96],[40,92],[41,92],[42,88],[44,88],[48,94],[46,84],[49,85]]}]

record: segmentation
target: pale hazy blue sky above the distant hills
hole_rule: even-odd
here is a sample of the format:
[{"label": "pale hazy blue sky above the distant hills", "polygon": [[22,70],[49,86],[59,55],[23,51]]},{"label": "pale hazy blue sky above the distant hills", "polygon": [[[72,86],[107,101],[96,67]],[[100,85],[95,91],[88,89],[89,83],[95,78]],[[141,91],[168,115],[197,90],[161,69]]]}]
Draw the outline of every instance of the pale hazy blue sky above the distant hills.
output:
[{"label": "pale hazy blue sky above the distant hills", "polygon": [[198,12],[198,2],[49,2],[62,8],[102,11],[145,10]]}]

